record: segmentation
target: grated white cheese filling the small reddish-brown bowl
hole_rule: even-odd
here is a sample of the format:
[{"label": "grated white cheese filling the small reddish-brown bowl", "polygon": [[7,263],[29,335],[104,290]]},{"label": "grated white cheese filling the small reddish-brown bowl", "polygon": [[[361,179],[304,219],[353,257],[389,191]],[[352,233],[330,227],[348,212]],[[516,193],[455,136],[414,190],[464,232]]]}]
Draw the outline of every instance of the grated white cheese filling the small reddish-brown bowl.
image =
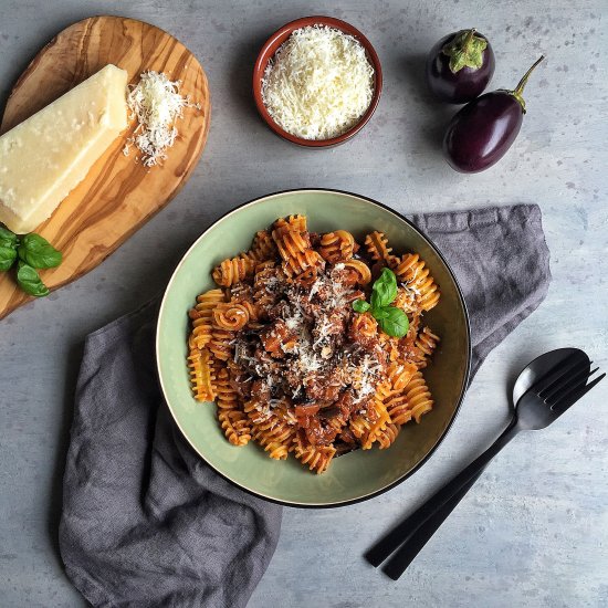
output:
[{"label": "grated white cheese filling the small reddish-brown bowl", "polygon": [[374,67],[352,35],[326,25],[295,30],[264,72],[262,101],[287,133],[331,139],[355,126],[374,94]]}]

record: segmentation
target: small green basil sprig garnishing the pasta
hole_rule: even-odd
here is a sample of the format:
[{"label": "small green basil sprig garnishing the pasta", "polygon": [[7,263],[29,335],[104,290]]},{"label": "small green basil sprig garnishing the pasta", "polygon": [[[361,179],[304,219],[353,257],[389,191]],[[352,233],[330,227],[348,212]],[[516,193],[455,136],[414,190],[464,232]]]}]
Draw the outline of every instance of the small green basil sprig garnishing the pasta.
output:
[{"label": "small green basil sprig garnishing the pasta", "polygon": [[357,313],[371,312],[380,329],[389,336],[402,338],[409,329],[408,315],[390,304],[397,297],[397,276],[390,269],[382,269],[371,287],[369,303],[365,300],[355,300],[353,308]]}]

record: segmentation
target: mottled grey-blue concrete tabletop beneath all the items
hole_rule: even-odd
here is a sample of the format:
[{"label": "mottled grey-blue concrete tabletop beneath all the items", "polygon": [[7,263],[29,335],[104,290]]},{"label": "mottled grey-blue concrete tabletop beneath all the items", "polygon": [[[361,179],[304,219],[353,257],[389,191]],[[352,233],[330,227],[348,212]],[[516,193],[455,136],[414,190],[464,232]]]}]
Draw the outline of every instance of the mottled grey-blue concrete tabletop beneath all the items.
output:
[{"label": "mottled grey-blue concrete tabletop beneath all the items", "polygon": [[[518,2],[198,2],[0,0],[0,104],[59,30],[99,13],[179,36],[210,81],[209,143],[189,184],[87,276],[0,322],[0,606],[76,607],[56,548],[61,475],[84,336],[159,292],[189,243],[231,207],[296,187],[343,188],[399,211],[538,202],[554,275],[542,307],[492,353],[453,430],[424,468],[371,502],[285,510],[281,542],[250,606],[599,607],[608,605],[608,382],[547,431],[517,438],[407,574],[361,554],[497,436],[513,375],[560,346],[607,361],[608,4]],[[250,95],[255,53],[277,27],[325,13],[360,28],[385,70],[377,114],[352,143],[307,151],[274,137]],[[441,35],[476,27],[495,50],[493,87],[539,55],[528,113],[503,161],[472,177],[438,147],[451,108],[420,61]]]}]

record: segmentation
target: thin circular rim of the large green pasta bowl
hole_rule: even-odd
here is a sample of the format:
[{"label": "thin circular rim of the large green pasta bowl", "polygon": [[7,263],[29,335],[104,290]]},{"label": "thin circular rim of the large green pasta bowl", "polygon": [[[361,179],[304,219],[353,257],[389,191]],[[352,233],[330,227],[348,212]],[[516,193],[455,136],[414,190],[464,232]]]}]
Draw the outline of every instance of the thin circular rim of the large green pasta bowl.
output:
[{"label": "thin circular rim of the large green pasta bowl", "polygon": [[[178,419],[177,419],[177,417],[174,412],[174,409],[171,408],[169,399],[167,398],[167,391],[165,390],[165,385],[163,382],[163,375],[161,375],[161,371],[160,371],[160,319],[163,318],[165,305],[166,305],[166,302],[167,302],[168,294],[171,290],[172,283],[176,279],[177,273],[179,272],[182,264],[185,263],[185,260],[190,255],[191,251],[199,244],[199,242],[207,235],[207,233],[212,228],[214,228],[218,223],[220,223],[221,221],[227,219],[228,217],[230,217],[232,214],[235,214],[237,212],[239,212],[241,209],[244,209],[245,207],[256,205],[258,202],[261,202],[261,201],[266,200],[269,198],[276,197],[279,195],[286,195],[286,193],[294,193],[294,192],[334,192],[334,193],[347,195],[347,196],[350,196],[350,197],[359,198],[359,199],[363,199],[366,202],[369,202],[369,203],[371,203],[371,205],[374,205],[374,206],[376,206],[376,207],[378,207],[378,208],[380,208],[385,211],[388,211],[389,213],[395,216],[398,220],[407,223],[424,241],[427,241],[427,243],[430,245],[430,248],[434,251],[434,253],[439,256],[439,259],[443,262],[443,264],[448,269],[448,272],[449,272],[450,276],[452,277],[452,281],[455,285],[455,290],[457,290],[460,303],[462,305],[462,310],[464,312],[464,325],[465,325],[465,328],[467,328],[467,361],[465,361],[464,376],[463,376],[463,379],[462,379],[462,386],[460,387],[460,392],[459,392],[459,396],[458,396],[458,399],[457,399],[457,402],[455,402],[454,411],[453,411],[448,424],[445,426],[445,429],[443,430],[443,432],[441,433],[441,436],[439,437],[439,439],[437,440],[434,445],[429,450],[429,452],[424,455],[424,458],[422,458],[420,460],[420,462],[418,462],[416,464],[416,467],[410,469],[407,473],[402,474],[400,478],[398,478],[394,482],[389,483],[388,485],[385,485],[384,488],[380,488],[379,490],[376,490],[374,492],[369,492],[368,494],[365,494],[363,496],[358,496],[356,499],[348,499],[348,500],[345,500],[345,501],[337,501],[337,502],[332,502],[332,503],[313,504],[313,503],[301,503],[301,502],[297,502],[297,501],[291,501],[290,502],[290,501],[275,499],[275,497],[272,497],[272,496],[266,496],[264,494],[261,494],[261,493],[256,492],[255,490],[252,490],[252,489],[244,488],[244,486],[240,485],[237,481],[230,479],[228,475],[226,475],[221,471],[219,471],[213,465],[212,462],[209,462],[209,460],[207,460],[205,458],[205,455],[202,455],[199,452],[197,447],[190,441],[187,433],[181,428],[181,424],[179,423],[179,421],[178,421]],[[471,359],[472,359],[471,322],[470,322],[469,310],[467,307],[467,302],[464,300],[464,295],[462,294],[462,290],[460,287],[459,282],[458,282],[458,279],[455,277],[454,272],[452,271],[452,268],[450,266],[450,264],[448,263],[448,261],[445,260],[445,258],[443,256],[441,251],[431,241],[431,239],[429,239],[424,234],[424,232],[422,232],[422,230],[420,230],[412,221],[408,220],[405,216],[402,216],[398,211],[395,211],[394,209],[391,209],[387,205],[384,205],[382,202],[379,202],[375,199],[371,199],[371,198],[363,196],[363,195],[358,195],[356,192],[349,192],[348,190],[339,190],[339,189],[334,189],[334,188],[292,188],[292,189],[287,189],[287,190],[277,190],[275,192],[271,192],[271,193],[264,195],[262,197],[256,197],[254,199],[248,200],[248,201],[245,201],[245,202],[228,210],[226,213],[220,216],[217,220],[211,222],[201,232],[201,234],[195,240],[195,242],[188,248],[188,250],[184,253],[184,255],[181,256],[181,259],[178,262],[177,266],[175,268],[175,270],[171,274],[171,277],[169,279],[169,281],[167,283],[167,287],[165,289],[165,292],[163,294],[163,300],[161,300],[160,306],[158,308],[158,316],[157,316],[157,321],[156,321],[155,354],[156,354],[156,373],[157,373],[157,377],[158,377],[158,382],[159,382],[159,386],[160,386],[160,390],[163,392],[164,401],[165,401],[167,408],[169,409],[169,412],[171,413],[171,418],[172,418],[174,422],[178,427],[178,429],[179,429],[181,436],[184,437],[184,439],[186,439],[188,444],[192,448],[192,450],[195,450],[195,452],[199,455],[199,458],[201,458],[218,475],[220,475],[222,479],[228,481],[233,486],[239,488],[239,490],[242,490],[243,492],[247,492],[248,494],[251,494],[252,496],[256,496],[258,499],[263,499],[264,501],[269,501],[271,503],[280,504],[280,505],[283,505],[283,506],[296,507],[296,509],[335,509],[335,507],[339,507],[339,506],[348,506],[348,505],[352,505],[352,504],[357,504],[357,503],[360,503],[360,502],[364,502],[364,501],[368,501],[368,500],[374,499],[376,496],[379,496],[379,495],[384,494],[385,492],[388,492],[389,490],[392,490],[397,485],[401,484],[408,478],[413,475],[413,473],[416,473],[431,458],[431,455],[434,453],[434,451],[439,448],[439,445],[445,439],[445,436],[448,434],[448,432],[452,428],[452,424],[454,423],[454,421],[455,421],[455,419],[457,419],[457,417],[460,412],[462,401],[464,399],[464,396],[467,395],[467,389],[469,388],[470,376],[471,376]]]}]

